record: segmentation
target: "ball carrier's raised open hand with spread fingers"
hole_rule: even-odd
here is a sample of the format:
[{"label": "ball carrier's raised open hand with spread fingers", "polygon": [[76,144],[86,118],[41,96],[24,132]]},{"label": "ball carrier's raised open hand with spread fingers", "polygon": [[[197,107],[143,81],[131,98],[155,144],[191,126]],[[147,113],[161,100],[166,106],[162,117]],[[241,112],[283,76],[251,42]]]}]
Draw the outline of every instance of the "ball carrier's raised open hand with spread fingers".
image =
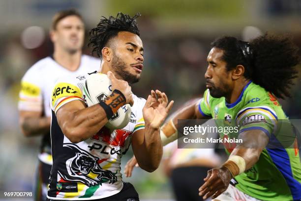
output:
[{"label": "ball carrier's raised open hand with spread fingers", "polygon": [[151,90],[147,102],[142,110],[145,124],[149,124],[153,128],[159,128],[170,112],[174,100],[168,103],[168,98],[165,93],[159,90]]}]

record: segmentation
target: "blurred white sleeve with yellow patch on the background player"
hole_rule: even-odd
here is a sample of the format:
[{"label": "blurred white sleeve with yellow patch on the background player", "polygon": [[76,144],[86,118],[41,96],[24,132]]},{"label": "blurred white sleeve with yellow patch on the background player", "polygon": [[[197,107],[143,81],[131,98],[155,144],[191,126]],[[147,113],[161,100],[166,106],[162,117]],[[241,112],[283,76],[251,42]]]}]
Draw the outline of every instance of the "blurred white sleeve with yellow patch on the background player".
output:
[{"label": "blurred white sleeve with yellow patch on the background player", "polygon": [[19,110],[37,111],[43,110],[43,85],[39,74],[34,68],[30,68],[21,80],[21,90],[19,92]]}]

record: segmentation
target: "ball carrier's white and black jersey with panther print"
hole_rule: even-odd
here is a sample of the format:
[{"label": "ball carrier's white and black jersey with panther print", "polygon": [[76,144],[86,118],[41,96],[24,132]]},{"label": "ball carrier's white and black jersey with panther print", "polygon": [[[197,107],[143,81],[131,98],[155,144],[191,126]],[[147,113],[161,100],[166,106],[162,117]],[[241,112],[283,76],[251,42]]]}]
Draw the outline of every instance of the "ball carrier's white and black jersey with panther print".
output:
[{"label": "ball carrier's white and black jersey with panther print", "polygon": [[73,100],[85,100],[83,90],[89,75],[64,77],[57,81],[52,95],[52,155],[48,198],[53,200],[92,200],[119,193],[123,187],[121,157],[132,134],[144,129],[142,109],[145,99],[133,95],[130,122],[122,129],[103,127],[94,136],[74,144],[62,133],[56,112]]}]

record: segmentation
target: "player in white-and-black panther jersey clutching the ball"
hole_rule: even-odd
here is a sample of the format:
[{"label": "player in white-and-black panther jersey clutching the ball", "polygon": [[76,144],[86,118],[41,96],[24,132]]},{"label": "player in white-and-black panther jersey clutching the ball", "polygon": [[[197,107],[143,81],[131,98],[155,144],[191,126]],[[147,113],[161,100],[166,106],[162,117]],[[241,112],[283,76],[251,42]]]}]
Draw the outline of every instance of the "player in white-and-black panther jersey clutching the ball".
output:
[{"label": "player in white-and-black panther jersey clutching the ball", "polygon": [[[109,97],[87,107],[86,79],[76,76],[61,78],[53,89],[54,162],[48,200],[139,201],[133,185],[122,182],[120,173],[121,157],[130,145],[141,168],[152,172],[159,166],[159,126],[173,101],[168,104],[167,96],[158,90],[152,90],[147,100],[131,92],[129,84],[139,81],[144,61],[139,16],[119,13],[116,18],[102,18],[91,29],[89,44],[101,58],[99,72],[111,79]],[[73,90],[60,90],[68,87]],[[126,103],[132,105],[127,126],[107,128],[108,120]]]}]

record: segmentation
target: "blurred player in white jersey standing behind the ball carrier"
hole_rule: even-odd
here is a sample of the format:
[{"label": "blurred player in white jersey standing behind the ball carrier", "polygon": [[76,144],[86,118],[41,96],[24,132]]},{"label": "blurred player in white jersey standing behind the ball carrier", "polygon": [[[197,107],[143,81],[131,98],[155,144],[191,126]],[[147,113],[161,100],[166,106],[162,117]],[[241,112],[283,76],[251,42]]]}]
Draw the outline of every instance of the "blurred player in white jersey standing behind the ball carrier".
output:
[{"label": "blurred player in white jersey standing behind the ball carrier", "polygon": [[60,76],[79,75],[99,69],[100,60],[83,55],[85,25],[73,9],[58,12],[50,31],[52,55],[35,63],[21,80],[19,100],[20,126],[25,136],[42,136],[35,181],[35,200],[45,201],[52,166],[50,97]]}]

